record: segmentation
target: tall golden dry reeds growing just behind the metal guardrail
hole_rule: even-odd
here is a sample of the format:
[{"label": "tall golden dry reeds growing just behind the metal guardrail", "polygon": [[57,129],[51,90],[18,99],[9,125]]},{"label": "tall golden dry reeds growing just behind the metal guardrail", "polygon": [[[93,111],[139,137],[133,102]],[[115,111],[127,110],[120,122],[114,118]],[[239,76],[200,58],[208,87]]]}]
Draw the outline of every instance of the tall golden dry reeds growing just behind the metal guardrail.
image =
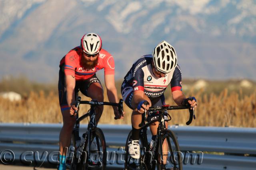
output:
[{"label": "tall golden dry reeds growing just behind the metal guardrail", "polygon": [[[168,93],[170,94],[170,91]],[[235,126],[256,127],[256,91],[243,94],[242,90],[233,92],[228,89],[219,94],[205,93],[205,90],[190,90],[186,96],[196,96],[198,107],[196,108],[196,120],[193,126]],[[82,96],[82,95],[81,95]],[[105,90],[105,100],[107,100]],[[119,98],[121,98],[119,94]],[[82,97],[82,100],[90,100]],[[172,97],[166,95],[166,104],[174,104]],[[81,105],[80,115],[88,111],[90,106]],[[100,123],[104,124],[130,124],[132,110],[124,104],[125,117],[122,120],[114,120],[111,106],[104,106],[104,113]],[[169,125],[185,125],[189,117],[187,110],[175,110],[169,112],[172,120]],[[0,122],[4,123],[62,123],[62,115],[58,102],[58,94],[44,91],[30,92],[30,94],[18,102],[10,102],[0,98]],[[84,120],[82,123],[87,123]]]}]

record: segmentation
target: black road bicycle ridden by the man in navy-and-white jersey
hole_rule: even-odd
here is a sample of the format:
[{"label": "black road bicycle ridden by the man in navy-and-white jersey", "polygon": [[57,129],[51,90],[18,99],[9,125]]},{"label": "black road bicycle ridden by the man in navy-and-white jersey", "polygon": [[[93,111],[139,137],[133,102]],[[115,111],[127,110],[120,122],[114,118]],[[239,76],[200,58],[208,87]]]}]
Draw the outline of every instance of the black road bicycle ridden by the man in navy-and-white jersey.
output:
[{"label": "black road bicycle ridden by the man in navy-and-white jersey", "polygon": [[[146,103],[144,103],[146,105]],[[179,144],[176,136],[172,131],[166,129],[165,121],[170,121],[171,116],[166,112],[167,110],[189,109],[190,117],[186,122],[189,125],[192,119],[196,119],[194,108],[190,106],[157,106],[150,107],[148,113],[158,112],[158,116],[151,118],[151,121],[145,124],[146,111],[142,115],[142,122],[140,123],[140,158],[134,159],[128,152],[128,141],[132,136],[130,131],[126,140],[126,154],[125,154],[125,170],[182,170],[182,152],[180,152]],[[150,150],[150,144],[147,139],[147,128],[155,122],[159,122],[156,140],[153,149]]]}]

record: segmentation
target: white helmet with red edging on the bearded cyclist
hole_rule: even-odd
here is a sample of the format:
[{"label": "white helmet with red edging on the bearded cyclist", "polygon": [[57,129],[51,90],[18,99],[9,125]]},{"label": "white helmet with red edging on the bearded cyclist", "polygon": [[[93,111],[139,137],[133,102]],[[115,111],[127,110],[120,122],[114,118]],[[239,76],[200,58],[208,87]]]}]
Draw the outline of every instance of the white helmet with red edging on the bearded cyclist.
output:
[{"label": "white helmet with red edging on the bearded cyclist", "polygon": [[102,48],[102,41],[100,36],[96,33],[84,34],[81,39],[81,47],[86,54],[98,54]]}]

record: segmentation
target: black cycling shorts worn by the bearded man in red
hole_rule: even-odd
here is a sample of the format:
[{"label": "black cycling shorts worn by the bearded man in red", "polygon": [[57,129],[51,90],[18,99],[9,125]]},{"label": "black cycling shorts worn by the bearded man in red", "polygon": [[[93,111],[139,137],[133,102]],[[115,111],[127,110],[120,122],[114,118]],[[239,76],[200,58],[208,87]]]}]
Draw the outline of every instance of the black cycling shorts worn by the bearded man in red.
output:
[{"label": "black cycling shorts worn by the bearded man in red", "polygon": [[[87,90],[92,83],[100,83],[100,80],[97,78],[96,74],[94,74],[93,76],[91,76],[90,78],[88,78],[86,80],[76,81],[75,98],[76,98],[76,94],[79,91],[82,92],[82,94],[84,94],[85,96],[90,97],[87,94]],[[101,83],[100,83],[100,85],[101,85]],[[65,88],[65,75],[62,70],[59,71],[58,91],[59,91],[59,103],[60,103],[61,111],[69,109],[67,98],[66,98],[67,92],[66,92],[66,88]]]}]

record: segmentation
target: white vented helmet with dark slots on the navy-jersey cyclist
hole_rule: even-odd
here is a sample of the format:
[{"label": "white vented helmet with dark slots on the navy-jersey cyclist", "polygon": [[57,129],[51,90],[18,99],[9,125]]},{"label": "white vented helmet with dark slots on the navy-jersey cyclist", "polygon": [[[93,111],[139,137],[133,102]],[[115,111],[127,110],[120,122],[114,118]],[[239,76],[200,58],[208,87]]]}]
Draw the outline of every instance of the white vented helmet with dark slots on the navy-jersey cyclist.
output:
[{"label": "white vented helmet with dark slots on the navy-jersey cyclist", "polygon": [[174,48],[162,41],[152,51],[153,62],[156,70],[162,73],[168,73],[177,66],[177,56]]}]

